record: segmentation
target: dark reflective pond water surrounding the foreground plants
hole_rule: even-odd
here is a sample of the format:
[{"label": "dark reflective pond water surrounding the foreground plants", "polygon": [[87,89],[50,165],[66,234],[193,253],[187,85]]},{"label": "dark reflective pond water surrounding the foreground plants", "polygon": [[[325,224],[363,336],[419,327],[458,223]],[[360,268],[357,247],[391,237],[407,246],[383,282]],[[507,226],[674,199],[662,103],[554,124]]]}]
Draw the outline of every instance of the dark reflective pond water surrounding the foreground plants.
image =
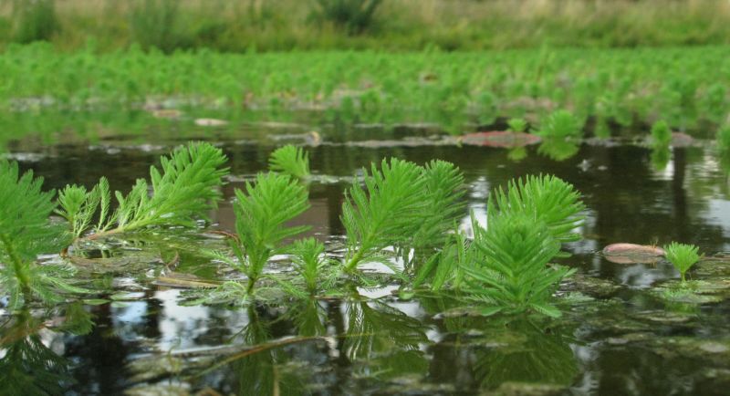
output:
[{"label": "dark reflective pond water surrounding the foreground plants", "polygon": [[[191,135],[206,133],[168,130],[153,144],[123,134],[50,145],[26,138],[7,148],[22,168],[45,177],[46,188],[90,186],[105,175],[121,190]],[[93,300],[15,316],[0,309],[0,377],[8,373],[0,394],[14,394],[11,385],[23,390],[17,394],[68,395],[727,394],[730,183],[711,144],[674,148],[664,165],[631,141],[587,141],[558,162],[538,146],[460,145],[431,129],[363,128],[357,141],[335,138],[336,131],[312,136],[255,125],[215,136],[232,176],[213,229],[233,230],[234,188],[265,170],[268,154],[285,141],[308,144],[317,175],[312,207],[297,222],[313,225],[310,234],[334,254],[344,234],[342,192],[370,162],[454,162],[477,218],[493,188],[553,173],[587,205],[584,239],[560,260],[579,270],[558,292],[563,317],[474,316],[448,297],[405,296],[393,285],[294,305],[200,305],[194,282],[239,276],[200,255],[202,246],[221,245],[220,235],[133,234],[80,252],[81,276],[105,290]],[[665,261],[620,264],[600,255],[612,243],[672,240],[708,256],[690,272],[706,281],[700,300],[662,295],[679,276]]]}]

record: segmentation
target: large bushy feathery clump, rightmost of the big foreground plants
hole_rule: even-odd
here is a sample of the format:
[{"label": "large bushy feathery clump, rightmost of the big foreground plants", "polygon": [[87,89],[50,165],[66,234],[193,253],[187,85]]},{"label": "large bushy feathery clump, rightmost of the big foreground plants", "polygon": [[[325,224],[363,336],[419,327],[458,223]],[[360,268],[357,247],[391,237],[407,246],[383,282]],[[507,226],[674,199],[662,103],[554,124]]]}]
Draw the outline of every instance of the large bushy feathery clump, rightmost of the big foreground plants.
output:
[{"label": "large bushy feathery clump, rightmost of the big foreground plants", "polygon": [[487,203],[485,230],[474,219],[477,260],[460,262],[470,298],[487,305],[485,314],[534,310],[558,317],[549,304],[558,283],[575,272],[548,266],[563,243],[580,239],[584,205],[572,185],[555,176],[527,176],[497,189]]}]

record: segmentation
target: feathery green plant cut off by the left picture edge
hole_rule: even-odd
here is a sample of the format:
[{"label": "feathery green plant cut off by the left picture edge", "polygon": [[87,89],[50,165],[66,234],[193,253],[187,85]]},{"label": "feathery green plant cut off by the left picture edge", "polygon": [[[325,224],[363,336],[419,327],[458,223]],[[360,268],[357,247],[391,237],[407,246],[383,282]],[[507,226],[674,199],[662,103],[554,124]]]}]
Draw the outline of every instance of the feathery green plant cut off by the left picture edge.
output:
[{"label": "feathery green plant cut off by the left picture edge", "polygon": [[0,162],[0,284],[11,309],[31,296],[54,303],[63,299],[59,290],[83,292],[63,280],[72,275],[68,267],[36,265],[37,255],[58,252],[70,239],[63,226],[48,222],[56,205],[42,183],[31,171],[20,176],[16,162]]}]

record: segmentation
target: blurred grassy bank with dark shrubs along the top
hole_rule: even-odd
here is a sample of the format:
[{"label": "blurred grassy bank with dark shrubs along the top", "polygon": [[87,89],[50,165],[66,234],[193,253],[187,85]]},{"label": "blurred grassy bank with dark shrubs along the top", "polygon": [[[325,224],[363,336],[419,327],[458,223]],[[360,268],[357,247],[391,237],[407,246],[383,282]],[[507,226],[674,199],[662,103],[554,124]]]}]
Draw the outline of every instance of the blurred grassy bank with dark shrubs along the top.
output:
[{"label": "blurred grassy bank with dark shrubs along the top", "polygon": [[725,0],[2,0],[0,47],[478,50],[727,44]]}]

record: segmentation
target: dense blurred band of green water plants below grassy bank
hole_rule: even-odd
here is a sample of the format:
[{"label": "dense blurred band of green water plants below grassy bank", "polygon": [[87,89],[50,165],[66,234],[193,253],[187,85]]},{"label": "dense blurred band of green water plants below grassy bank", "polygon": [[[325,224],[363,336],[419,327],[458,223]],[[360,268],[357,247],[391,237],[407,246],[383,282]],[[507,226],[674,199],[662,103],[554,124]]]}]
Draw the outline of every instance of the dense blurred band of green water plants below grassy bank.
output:
[{"label": "dense blurred band of green water plants below grassy bank", "polygon": [[454,134],[508,118],[538,128],[568,109],[579,130],[597,136],[660,118],[674,130],[707,132],[730,109],[729,55],[725,47],[166,55],[36,43],[0,58],[0,109],[190,108],[233,121],[314,110],[330,122],[438,122]]}]

